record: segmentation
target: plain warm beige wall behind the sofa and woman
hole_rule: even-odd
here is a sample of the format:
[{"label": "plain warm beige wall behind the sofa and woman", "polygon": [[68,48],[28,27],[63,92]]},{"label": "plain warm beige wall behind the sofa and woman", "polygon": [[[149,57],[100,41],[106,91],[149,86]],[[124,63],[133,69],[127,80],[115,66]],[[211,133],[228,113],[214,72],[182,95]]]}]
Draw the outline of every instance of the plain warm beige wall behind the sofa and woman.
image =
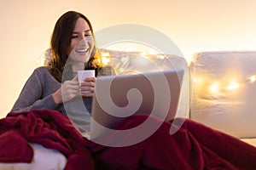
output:
[{"label": "plain warm beige wall behind the sofa and woman", "polygon": [[162,31],[189,57],[206,50],[255,49],[254,0],[9,0],[0,6],[0,117],[20,94],[49,46],[55,20],[69,9],[87,15],[95,30],[142,24]]}]

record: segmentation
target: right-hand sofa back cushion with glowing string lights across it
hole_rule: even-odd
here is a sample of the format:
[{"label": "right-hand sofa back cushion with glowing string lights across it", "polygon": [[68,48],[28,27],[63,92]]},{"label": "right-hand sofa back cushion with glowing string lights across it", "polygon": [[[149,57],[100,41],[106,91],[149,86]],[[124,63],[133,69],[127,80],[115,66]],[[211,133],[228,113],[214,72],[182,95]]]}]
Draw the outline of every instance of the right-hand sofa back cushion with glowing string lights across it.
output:
[{"label": "right-hand sofa back cushion with glowing string lights across it", "polygon": [[190,118],[237,138],[255,138],[256,51],[197,53],[189,69]]}]

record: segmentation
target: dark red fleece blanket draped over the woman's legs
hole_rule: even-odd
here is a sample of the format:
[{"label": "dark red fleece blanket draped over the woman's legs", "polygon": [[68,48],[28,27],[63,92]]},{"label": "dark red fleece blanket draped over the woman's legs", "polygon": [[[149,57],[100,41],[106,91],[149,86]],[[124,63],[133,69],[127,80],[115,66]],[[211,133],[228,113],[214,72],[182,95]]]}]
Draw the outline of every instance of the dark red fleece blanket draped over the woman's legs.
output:
[{"label": "dark red fleece blanket draped over the woman's legs", "polygon": [[[146,119],[160,122],[153,116],[137,115],[116,128],[137,127]],[[182,127],[174,125],[179,122],[183,122]],[[173,125],[178,130],[170,134]],[[115,139],[115,134],[107,139]],[[256,169],[255,147],[189,119],[164,122],[147,139],[125,147],[104,146],[83,138],[67,116],[57,111],[11,112],[0,120],[1,162],[32,161],[28,142],[60,150],[67,157],[66,170]]]}]

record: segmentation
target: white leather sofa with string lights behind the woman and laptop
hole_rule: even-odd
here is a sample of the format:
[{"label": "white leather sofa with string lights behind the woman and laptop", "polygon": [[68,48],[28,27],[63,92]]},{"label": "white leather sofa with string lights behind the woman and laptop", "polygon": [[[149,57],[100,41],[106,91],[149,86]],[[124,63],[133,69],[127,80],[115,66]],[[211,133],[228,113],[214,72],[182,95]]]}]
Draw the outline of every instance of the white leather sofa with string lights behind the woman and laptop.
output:
[{"label": "white leather sofa with string lights behind the woman and laptop", "polygon": [[102,53],[118,74],[184,68],[187,74],[177,116],[256,146],[256,51],[199,52],[189,64],[177,55]]}]

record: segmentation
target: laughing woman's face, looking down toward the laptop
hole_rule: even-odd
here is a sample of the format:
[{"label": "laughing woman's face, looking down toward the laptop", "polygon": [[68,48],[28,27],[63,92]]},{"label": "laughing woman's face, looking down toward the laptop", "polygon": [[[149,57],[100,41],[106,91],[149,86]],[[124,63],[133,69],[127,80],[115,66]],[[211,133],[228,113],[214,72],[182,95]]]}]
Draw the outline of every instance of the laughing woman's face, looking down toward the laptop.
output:
[{"label": "laughing woman's face, looking down toward the laptop", "polygon": [[85,63],[90,59],[94,45],[95,43],[92,32],[90,31],[90,26],[86,20],[79,18],[76,21],[67,54],[73,63]]}]

